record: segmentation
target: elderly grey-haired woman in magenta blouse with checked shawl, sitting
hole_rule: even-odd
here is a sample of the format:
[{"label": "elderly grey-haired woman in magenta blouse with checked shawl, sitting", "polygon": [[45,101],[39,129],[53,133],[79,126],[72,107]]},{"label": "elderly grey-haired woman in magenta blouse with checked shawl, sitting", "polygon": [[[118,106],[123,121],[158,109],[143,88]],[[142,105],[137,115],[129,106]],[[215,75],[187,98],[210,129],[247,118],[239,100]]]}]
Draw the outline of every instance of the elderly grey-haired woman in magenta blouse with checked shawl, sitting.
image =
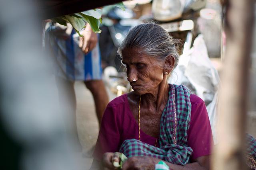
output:
[{"label": "elderly grey-haired woman in magenta blouse with checked shawl, sitting", "polygon": [[179,57],[172,37],[159,25],[140,24],[119,54],[134,91],[108,104],[93,164],[114,169],[122,152],[124,170],[154,170],[160,160],[172,170],[209,169],[212,131],[204,101],[167,82]]}]

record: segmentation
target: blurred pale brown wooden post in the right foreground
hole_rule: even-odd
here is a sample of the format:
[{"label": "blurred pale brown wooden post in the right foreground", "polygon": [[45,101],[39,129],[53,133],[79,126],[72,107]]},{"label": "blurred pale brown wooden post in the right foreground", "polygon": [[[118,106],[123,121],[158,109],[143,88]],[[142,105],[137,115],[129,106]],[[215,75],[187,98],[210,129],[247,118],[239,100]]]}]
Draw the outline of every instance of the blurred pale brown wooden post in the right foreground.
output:
[{"label": "blurred pale brown wooden post in the right foreground", "polygon": [[219,143],[212,156],[212,169],[244,170],[243,147],[254,0],[222,0],[222,4],[226,8],[226,52],[218,111]]}]

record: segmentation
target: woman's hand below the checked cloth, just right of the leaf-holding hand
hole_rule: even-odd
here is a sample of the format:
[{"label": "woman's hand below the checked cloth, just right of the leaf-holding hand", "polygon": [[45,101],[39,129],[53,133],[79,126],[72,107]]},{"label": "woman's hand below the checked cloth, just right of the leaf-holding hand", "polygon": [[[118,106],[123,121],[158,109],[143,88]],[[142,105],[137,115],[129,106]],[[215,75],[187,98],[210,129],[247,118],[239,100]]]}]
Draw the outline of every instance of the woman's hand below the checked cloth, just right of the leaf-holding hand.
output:
[{"label": "woman's hand below the checked cloth, just right of the leaf-holding hand", "polygon": [[123,166],[122,170],[154,170],[155,169],[154,158],[149,156],[133,156],[128,158]]}]

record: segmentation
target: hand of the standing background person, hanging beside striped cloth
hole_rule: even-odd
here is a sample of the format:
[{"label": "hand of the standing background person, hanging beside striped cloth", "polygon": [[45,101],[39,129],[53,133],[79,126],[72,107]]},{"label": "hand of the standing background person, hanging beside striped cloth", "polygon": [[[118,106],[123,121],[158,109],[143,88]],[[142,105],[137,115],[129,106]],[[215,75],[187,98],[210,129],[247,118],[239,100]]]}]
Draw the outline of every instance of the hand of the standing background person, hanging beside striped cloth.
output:
[{"label": "hand of the standing background person, hanging beside striped cloth", "polygon": [[82,51],[85,54],[87,54],[96,47],[98,43],[98,36],[97,33],[92,31],[92,28],[88,23],[86,23],[86,28],[82,31],[82,35],[84,37],[79,37],[79,47],[82,48]]}]

